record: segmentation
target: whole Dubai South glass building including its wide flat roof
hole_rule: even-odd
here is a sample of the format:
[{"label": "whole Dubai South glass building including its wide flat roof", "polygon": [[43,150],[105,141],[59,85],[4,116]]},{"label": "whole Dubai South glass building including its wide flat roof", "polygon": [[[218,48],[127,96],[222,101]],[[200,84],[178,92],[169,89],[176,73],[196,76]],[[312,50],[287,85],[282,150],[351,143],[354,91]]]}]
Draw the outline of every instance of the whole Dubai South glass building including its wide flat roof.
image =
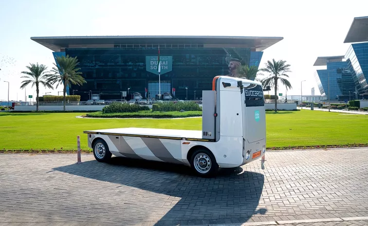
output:
[{"label": "whole Dubai South glass building including its wide flat roof", "polygon": [[77,36],[31,37],[51,49],[54,56],[76,56],[87,84],[72,86],[68,95],[81,100],[99,94],[102,100],[127,99],[134,92],[155,98],[159,94],[158,50],[161,62],[161,94],[180,100],[198,99],[212,88],[212,79],[229,74],[229,61],[259,66],[263,50],[282,37],[243,36]]}]

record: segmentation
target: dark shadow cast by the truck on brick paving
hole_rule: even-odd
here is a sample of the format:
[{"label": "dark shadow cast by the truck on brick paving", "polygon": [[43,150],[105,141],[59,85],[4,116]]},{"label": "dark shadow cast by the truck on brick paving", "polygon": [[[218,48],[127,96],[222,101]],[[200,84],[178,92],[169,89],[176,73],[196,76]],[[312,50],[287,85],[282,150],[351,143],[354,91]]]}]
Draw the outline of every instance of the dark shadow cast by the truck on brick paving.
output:
[{"label": "dark shadow cast by the truck on brick paving", "polygon": [[175,205],[163,207],[170,210],[155,226],[244,223],[254,214],[267,211],[257,210],[264,175],[241,167],[202,178],[183,165],[112,157],[109,163],[92,160],[54,170],[180,197]]}]

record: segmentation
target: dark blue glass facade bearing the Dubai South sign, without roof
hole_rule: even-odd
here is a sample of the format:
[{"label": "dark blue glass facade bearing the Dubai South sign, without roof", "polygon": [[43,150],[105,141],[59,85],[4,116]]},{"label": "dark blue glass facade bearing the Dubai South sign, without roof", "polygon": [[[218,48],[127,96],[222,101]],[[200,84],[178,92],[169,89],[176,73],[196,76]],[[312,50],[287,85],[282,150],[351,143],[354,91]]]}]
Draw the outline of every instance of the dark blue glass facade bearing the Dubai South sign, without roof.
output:
[{"label": "dark blue glass facade bearing the Dubai South sign, without roof", "polygon": [[[251,52],[250,48],[203,48],[203,45],[160,44],[162,66],[161,94],[169,92],[180,100],[202,97],[202,90],[211,90],[212,79],[227,75],[231,58],[241,58],[243,64],[259,65],[263,52]],[[155,98],[159,93],[157,71],[158,45],[115,45],[115,48],[66,48],[65,54],[77,57],[78,67],[87,83],[69,87],[81,101],[92,94],[100,94],[102,100],[121,99],[121,91],[127,91],[126,99],[134,92],[143,97]],[[156,57],[156,62],[154,59]],[[165,63],[165,64],[166,64]],[[155,67],[156,66],[156,67]],[[187,88],[187,90],[186,90]],[[146,93],[147,89],[147,93]]]}]

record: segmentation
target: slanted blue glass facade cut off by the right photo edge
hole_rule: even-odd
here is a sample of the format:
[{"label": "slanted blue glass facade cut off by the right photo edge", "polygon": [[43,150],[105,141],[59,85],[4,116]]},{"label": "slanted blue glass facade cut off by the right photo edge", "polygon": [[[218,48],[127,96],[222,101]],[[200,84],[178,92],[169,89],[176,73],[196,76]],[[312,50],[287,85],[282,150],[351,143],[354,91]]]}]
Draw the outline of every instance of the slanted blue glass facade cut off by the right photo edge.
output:
[{"label": "slanted blue glass facade cut off by the right photo edge", "polygon": [[345,58],[354,81],[354,92],[368,93],[368,42],[351,44]]}]

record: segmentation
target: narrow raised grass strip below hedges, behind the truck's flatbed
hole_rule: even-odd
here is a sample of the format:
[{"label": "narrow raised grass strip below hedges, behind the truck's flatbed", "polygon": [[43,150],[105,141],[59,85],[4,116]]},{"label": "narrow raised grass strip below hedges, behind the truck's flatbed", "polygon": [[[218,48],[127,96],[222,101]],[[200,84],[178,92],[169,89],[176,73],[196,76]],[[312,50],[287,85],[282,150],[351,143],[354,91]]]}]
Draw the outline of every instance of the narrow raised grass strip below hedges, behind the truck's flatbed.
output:
[{"label": "narrow raised grass strip below hedges, behind the truck's flatbed", "polygon": [[139,111],[124,113],[102,113],[102,111],[87,113],[87,117],[92,118],[186,118],[202,116],[202,111]]}]

